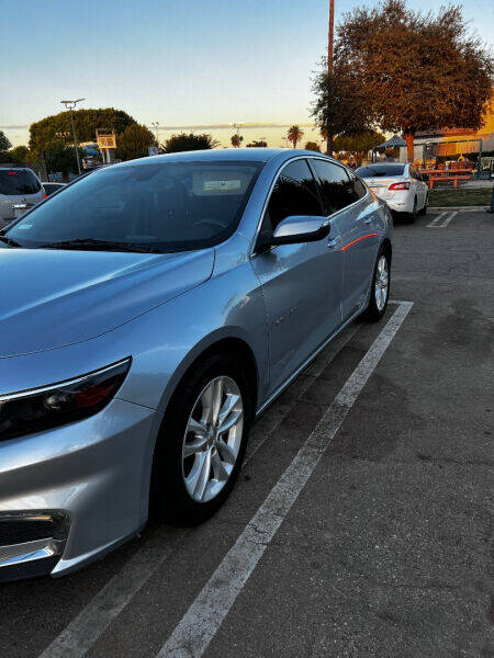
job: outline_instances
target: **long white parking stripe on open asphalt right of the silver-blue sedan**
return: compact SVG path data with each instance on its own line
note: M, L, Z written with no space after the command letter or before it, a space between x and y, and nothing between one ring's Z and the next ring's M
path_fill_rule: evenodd
M412 308L402 302L290 466L161 647L157 658L204 654Z

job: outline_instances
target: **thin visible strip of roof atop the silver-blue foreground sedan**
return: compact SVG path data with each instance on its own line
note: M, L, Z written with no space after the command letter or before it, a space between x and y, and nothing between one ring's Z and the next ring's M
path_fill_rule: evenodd
M283 155L287 160L300 155L326 157L324 154L316 151L294 148L218 148L150 156L148 158L139 158L138 160L120 162L113 167L126 167L138 163L148 164L149 162L267 162L271 158Z

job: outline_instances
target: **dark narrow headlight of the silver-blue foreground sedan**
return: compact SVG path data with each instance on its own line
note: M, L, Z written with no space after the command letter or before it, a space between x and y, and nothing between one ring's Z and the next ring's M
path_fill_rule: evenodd
M131 358L50 386L0 394L0 440L40 432L87 418L114 397Z

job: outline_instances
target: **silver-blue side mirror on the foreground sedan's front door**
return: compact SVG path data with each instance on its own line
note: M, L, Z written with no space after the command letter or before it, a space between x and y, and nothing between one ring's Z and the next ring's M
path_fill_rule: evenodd
M276 227L274 231L265 230L257 241L258 251L266 251L278 245L299 245L316 242L329 234L327 217L292 215Z

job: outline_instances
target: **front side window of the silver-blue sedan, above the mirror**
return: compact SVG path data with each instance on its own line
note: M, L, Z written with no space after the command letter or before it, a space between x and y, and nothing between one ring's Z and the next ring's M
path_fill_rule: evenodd
M291 215L322 215L315 180L306 160L295 160L281 171L265 216L272 230Z

